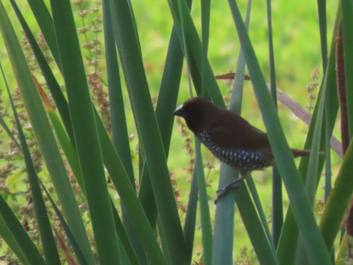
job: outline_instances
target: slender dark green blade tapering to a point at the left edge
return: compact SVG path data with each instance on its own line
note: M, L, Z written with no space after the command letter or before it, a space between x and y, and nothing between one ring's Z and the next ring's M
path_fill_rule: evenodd
M53 231L51 229L48 214L47 214L47 208L45 206L43 196L42 196L42 191L39 187L39 183L37 180L37 178L38 178L37 173L34 169L31 154L29 152L29 149L28 149L28 146L26 143L26 139L23 134L23 130L22 130L22 127L21 127L21 124L20 124L20 121L19 121L19 118L17 115L17 111L16 111L15 105L12 100L10 89L8 88L5 74L2 69L1 64L0 64L0 69L1 69L2 76L4 77L7 94L8 94L8 97L10 98L12 111L14 114L14 118L16 120L17 131L18 131L19 139L20 139L21 146L22 146L22 152L24 155L26 171L28 174L29 184L30 184L30 188L31 188L34 210L36 213L38 228L39 228L39 232L40 232L40 236L41 236L41 240L42 240L42 245L43 245L43 249L44 249L44 256L46 258L47 263L60 264L58 249L56 248Z

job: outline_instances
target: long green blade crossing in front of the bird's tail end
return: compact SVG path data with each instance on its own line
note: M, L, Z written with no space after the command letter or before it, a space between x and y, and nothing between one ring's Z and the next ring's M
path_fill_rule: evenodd
M267 90L238 6L235 1L229 0L228 2L250 75L253 76L251 81L268 132L271 148L273 149L277 166L285 183L295 219L305 240L309 258L312 262L331 264L330 256L324 247L322 235L316 225L309 199L304 191L304 184L301 181L299 172L295 168L293 155L283 134L278 116L276 115L275 106Z

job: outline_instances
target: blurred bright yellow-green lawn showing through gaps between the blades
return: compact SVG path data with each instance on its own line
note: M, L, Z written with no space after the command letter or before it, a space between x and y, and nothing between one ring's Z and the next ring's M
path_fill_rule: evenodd
M48 1L46 1L48 2ZM140 45L142 49L142 56L144 60L145 71L150 87L152 97L158 94L158 88L161 82L164 61L166 58L170 32L172 29L172 17L170 15L167 1L138 1L131 0L135 18L137 21L137 28L139 34ZM237 1L239 7L245 14L247 1ZM322 64L321 64L321 48L320 36L318 26L317 2L316 1L271 1L272 2L272 24L273 24L273 45L274 45L274 58L275 58L275 71L276 71L276 84L277 88L286 92L294 100L298 101L302 106L310 103L309 94L306 87L313 81L312 73L316 67L319 70L319 83L322 78ZM23 12L26 21L29 23L31 30L37 34L39 29L36 21L31 13L31 10L26 1L17 1L21 11ZM47 3L48 4L48 3ZM23 35L20 34L20 26L17 18L12 11L10 3L4 1L4 5L10 19L18 33L19 39ZM50 8L49 5L47 5ZM82 7L87 9L96 6L94 1L85 0ZM77 6L73 6L73 10L78 11ZM337 1L327 1L327 24L328 24L328 45L330 47L331 34L333 30L335 13L337 10ZM101 16L101 11L99 11ZM191 9L191 14L196 23L196 27L201 30L201 10L200 2L194 1ZM88 13L84 20L85 25L91 27L91 22L97 14ZM76 16L77 27L83 26L83 21L80 17ZM263 74L269 82L269 55L268 55L268 32L267 32L267 13L265 1L253 1L250 16L250 37L252 44L255 48L259 64ZM133 34L133 33L132 33ZM102 73L102 81L106 81L106 66L104 60L104 43L103 33L97 34L98 39L101 40L102 56L99 64L99 70ZM96 37L96 34L88 32L88 40ZM80 35L81 43L83 44L86 39L85 36ZM239 40L237 32L234 27L233 19L229 11L226 1L212 1L211 2L211 19L210 19L210 40L208 58L211 67L215 74L226 73L228 70L235 71L239 53ZM84 58L89 57L89 52L82 49ZM16 87L16 81L13 78L10 62L7 59L6 49L4 43L0 38L0 60L6 71L8 82L11 89ZM87 73L92 71L88 64ZM59 71L54 71L56 76L59 76ZM40 81L40 75L36 74ZM122 80L124 77L121 74ZM62 80L59 78L59 80ZM123 83L123 82L122 82ZM231 86L224 81L218 81L223 96L229 96L228 91ZM0 80L0 88L4 89L4 81ZM318 92L314 91L313 94ZM124 91L126 115L128 122L128 133L136 135L136 129L132 117L131 107L128 100L127 92ZM180 85L179 104L182 104L189 98L189 87L187 83L187 69L184 64L183 75ZM8 99L4 97L3 106L6 108L9 105ZM253 94L250 81L245 81L244 98L243 98L243 111L242 116L247 119L251 124L264 130L262 118L257 106L255 96ZM282 122L283 129L287 136L289 145L292 148L302 148L307 133L307 126L304 122L295 117L286 107L279 104L279 116ZM334 131L334 135L340 139L338 130ZM190 135L191 136L191 135ZM0 137L7 142L4 133ZM177 188L179 190L178 200L181 204L186 205L190 189L190 173L187 172L189 167L190 155L186 153L184 147L185 137L181 136L180 125L175 124L173 136L170 146L170 154L168 166L170 171L174 171ZM136 150L137 137L131 141L132 152ZM1 149L6 148L6 145L1 145ZM214 215L215 205L215 191L218 185L219 176L219 161L214 159L211 154L203 148L204 163L211 163L214 165L212 169L205 168L207 181L210 184L208 194L210 196L210 210L211 216ZM333 153L333 178L337 175L339 158ZM135 156L136 170L138 170L137 156ZM0 166L4 165L5 161L0 160ZM270 215L271 209L271 170L259 171L253 173L253 178L257 184L259 196L265 214ZM286 207L288 206L288 199L286 197L285 189L283 188L283 198ZM319 189L317 194L318 199L323 199L323 190ZM319 218L319 212L322 206L316 204L315 212ZM184 214L185 215L185 214ZM185 216L181 214L183 220ZM270 218L269 218L270 220ZM182 221L183 223L183 221ZM199 224L197 223L197 228ZM249 249L251 244L247 237L245 228L240 220L239 214L235 214L234 225L234 257L239 257L239 249L246 245ZM201 245L201 229L197 229L195 238L195 251L194 255L202 253ZM248 251L248 254L250 252ZM252 255L252 254L249 254Z

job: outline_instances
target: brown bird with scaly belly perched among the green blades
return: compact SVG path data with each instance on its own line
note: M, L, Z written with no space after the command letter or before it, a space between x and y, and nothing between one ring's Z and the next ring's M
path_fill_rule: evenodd
M183 117L187 127L216 158L240 172L238 179L217 190L215 203L251 171L275 164L266 133L207 98L191 98L179 106L173 115ZM295 158L310 154L309 150L292 149L292 152Z

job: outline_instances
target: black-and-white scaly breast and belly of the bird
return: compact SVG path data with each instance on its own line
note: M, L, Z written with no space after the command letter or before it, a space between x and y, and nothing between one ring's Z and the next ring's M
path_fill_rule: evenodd
M241 173L262 170L274 164L274 156L270 150L247 150L243 148L221 148L211 140L208 131L196 135L198 139L221 162L234 167Z

